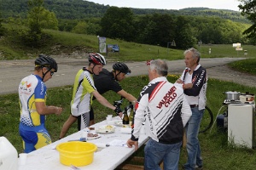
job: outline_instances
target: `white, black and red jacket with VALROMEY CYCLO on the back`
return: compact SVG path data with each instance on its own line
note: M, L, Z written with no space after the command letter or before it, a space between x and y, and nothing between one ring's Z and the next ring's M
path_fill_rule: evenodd
M145 119L146 133L151 139L163 144L182 141L183 127L191 116L183 88L168 82L166 77L155 78L143 88L135 109L133 141L138 140Z

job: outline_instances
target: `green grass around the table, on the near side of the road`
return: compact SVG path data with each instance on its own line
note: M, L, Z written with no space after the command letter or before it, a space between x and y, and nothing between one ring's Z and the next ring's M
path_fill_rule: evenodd
M177 75L169 75L168 79L174 82L177 79ZM148 76L140 77L127 77L121 86L138 97L139 92L144 85L148 84ZM72 96L72 86L49 88L48 90L48 105L58 105L64 108L61 116L50 115L47 116L46 127L49 130L49 134L53 141L59 138L61 132L61 126L67 120L69 116L69 103ZM207 105L211 108L214 118L218 114L223 113L219 108L225 99L224 91L236 90L239 92L249 91L252 94L256 94L256 88L249 88L233 82L218 81L215 79L209 79L207 88ZM104 94L109 102L113 103L114 100L119 99L119 95L113 92ZM127 102L127 101L126 101ZM124 103L122 106L125 106ZM113 111L100 105L97 101L94 102L94 109L96 113L96 122L100 122L105 119L108 114L113 114ZM17 94L8 94L0 96L0 136L5 136L15 146L18 152L22 152L21 138L18 133L20 109L18 104ZM68 131L68 134L77 132L77 124ZM219 133L216 130L216 124L212 129L212 133L201 133L199 135L201 141L202 156L204 158L204 169L254 169L256 166L256 154L255 150L236 148L235 146L228 144L227 133ZM143 153L138 151L135 155L142 156ZM181 151L180 167L186 161L186 150Z

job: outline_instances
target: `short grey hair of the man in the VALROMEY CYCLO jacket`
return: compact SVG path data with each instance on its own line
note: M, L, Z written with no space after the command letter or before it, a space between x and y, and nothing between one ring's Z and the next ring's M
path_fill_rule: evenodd
M168 74L168 65L165 60L155 59L150 61L150 70L155 70L158 75L166 77Z

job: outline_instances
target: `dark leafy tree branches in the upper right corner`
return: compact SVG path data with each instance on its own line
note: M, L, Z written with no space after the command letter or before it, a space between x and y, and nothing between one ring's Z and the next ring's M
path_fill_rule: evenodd
M250 26L243 34L246 34L247 37L251 38L252 42L256 41L256 0L239 0L241 2L238 7L241 9L241 15L247 17L253 25Z

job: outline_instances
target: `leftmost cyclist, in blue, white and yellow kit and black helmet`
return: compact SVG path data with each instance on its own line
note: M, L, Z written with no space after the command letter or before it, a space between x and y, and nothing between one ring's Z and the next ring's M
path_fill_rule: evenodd
M24 152L29 153L51 143L49 133L44 127L45 116L60 115L61 107L47 106L46 86L58 70L55 59L40 54L35 60L35 70L23 78L19 85L20 125L19 133L23 140Z

